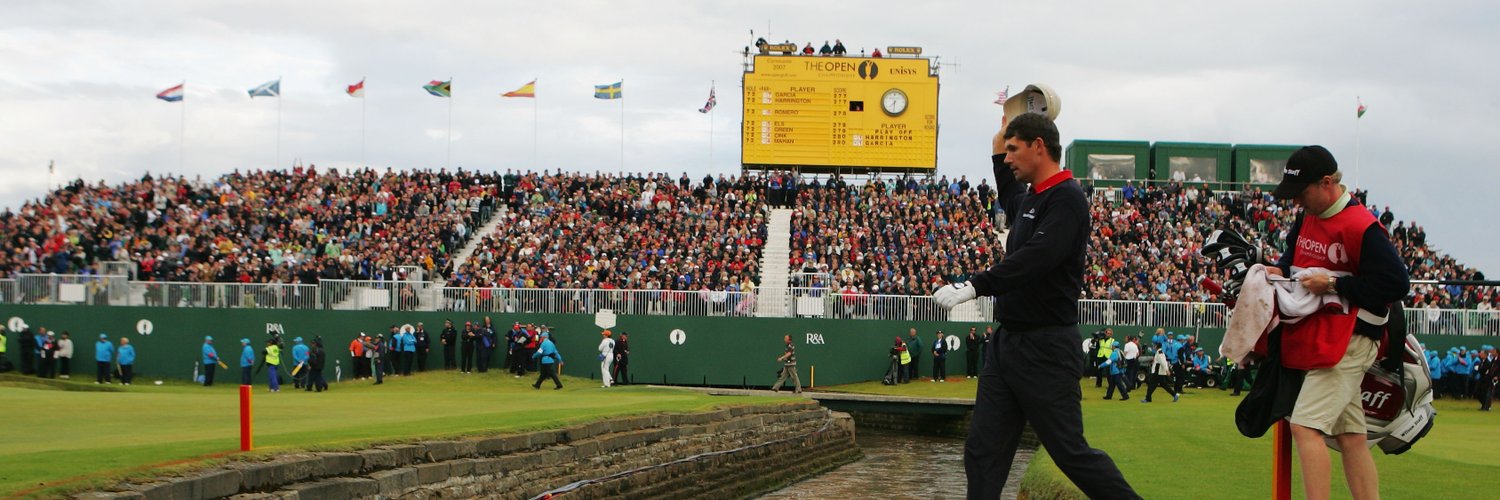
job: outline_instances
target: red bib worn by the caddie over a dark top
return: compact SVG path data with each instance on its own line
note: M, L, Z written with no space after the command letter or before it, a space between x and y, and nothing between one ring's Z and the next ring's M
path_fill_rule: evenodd
M1328 219L1305 213L1293 248L1292 273L1308 267L1358 272L1359 249L1371 224L1378 222L1359 203L1346 206ZM1350 305L1344 314L1318 311L1302 321L1286 324L1281 330L1281 365L1294 369L1338 365L1348 348L1348 338L1354 335L1358 312Z

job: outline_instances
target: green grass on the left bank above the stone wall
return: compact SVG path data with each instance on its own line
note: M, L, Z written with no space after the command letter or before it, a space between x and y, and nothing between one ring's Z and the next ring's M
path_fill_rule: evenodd
M238 386L136 380L100 389L92 380L0 375L0 497L58 494L290 450L360 449L438 437L560 428L627 414L704 411L780 398L722 398L678 389L564 377L564 390L531 389L504 372L429 372L333 384L326 393L254 398L255 450L238 453Z

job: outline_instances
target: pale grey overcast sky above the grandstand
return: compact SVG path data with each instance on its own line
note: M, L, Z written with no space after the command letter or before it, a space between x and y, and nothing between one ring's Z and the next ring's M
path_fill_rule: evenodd
M1047 83L1064 143L1324 144L1372 203L1494 273L1496 20L1486 2L6 0L0 206L40 197L50 161L54 183L278 165L278 101L246 96L278 77L282 167L442 167L452 105L454 168L616 171L620 102L591 86L624 80L626 170L736 173L753 29L957 63L939 174L987 177L994 92ZM363 102L344 93L360 78ZM453 99L422 90L447 78ZM498 96L532 78L534 102ZM184 102L153 98L182 81Z

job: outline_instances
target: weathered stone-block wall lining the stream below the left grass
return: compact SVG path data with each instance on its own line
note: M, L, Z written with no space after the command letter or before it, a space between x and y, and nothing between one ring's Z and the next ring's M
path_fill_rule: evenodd
M294 453L80 498L746 497L861 456L813 401L654 414L528 434Z

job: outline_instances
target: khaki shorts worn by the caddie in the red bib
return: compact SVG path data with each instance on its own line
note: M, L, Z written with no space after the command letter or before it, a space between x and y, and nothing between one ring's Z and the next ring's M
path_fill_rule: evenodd
M1380 342L1356 333L1348 338L1348 348L1338 365L1310 369L1292 408L1292 423L1323 431L1324 435L1365 434L1360 383L1378 348Z

